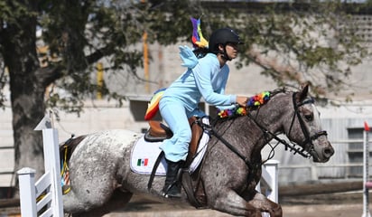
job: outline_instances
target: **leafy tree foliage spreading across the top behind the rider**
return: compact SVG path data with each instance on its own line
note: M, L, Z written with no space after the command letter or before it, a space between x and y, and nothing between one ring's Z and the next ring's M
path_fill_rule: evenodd
M309 82L317 94L337 92L347 85L350 66L360 63L367 55L363 43L350 22L358 11L368 5L348 6L337 1L311 1L265 4L248 10L251 3L239 3L236 8L223 6L216 12L210 3L197 1L40 1L23 5L22 1L0 1L3 28L18 22L19 16L37 18L34 27L42 28L42 41L49 46L50 67L59 65L60 76L51 80L55 89L48 103L79 112L83 100L97 90L90 71L101 58L111 61L113 73L132 73L143 66L143 53L133 45L142 41L143 33L149 42L164 45L187 40L190 35L190 16L202 15L202 28L209 35L220 24L228 23L240 31L245 46L237 67L251 63L261 66L262 74L278 85L298 86ZM350 11L350 8L353 8ZM246 13L246 11L249 11ZM228 21L228 22L227 22ZM22 27L22 24L19 24ZM22 30L19 30L22 32ZM1 33L1 32L0 32ZM14 35L14 40L16 40ZM346 40L347 39L347 40ZM2 53L5 47L1 47ZM340 64L344 62L346 64ZM109 70L108 68L106 70ZM5 80L4 72L2 80ZM4 82L2 83L2 88ZM108 99L125 99L110 92ZM4 96L0 102L4 102Z

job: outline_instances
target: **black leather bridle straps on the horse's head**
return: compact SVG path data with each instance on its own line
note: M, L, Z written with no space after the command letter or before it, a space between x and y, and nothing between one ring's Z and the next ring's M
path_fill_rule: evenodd
M310 157L311 154L313 151L314 151L314 145L312 144L312 141L317 139L318 137L321 137L321 136L327 136L327 131L325 130L322 130L322 131L319 131L317 133L315 133L314 135L310 136L310 133L309 133L309 130L306 128L305 126L305 123L300 115L300 111L299 111L299 108L302 107L303 105L305 104L312 104L314 103L314 99L306 99L300 103L296 103L296 93L293 93L293 107L294 107L294 114L293 114L293 118L292 118L292 123L291 123L291 127L289 128L289 131L288 131L288 136L291 135L291 131L292 131L292 127L293 127L293 123L294 123L294 119L297 117L298 121L300 122L300 127L302 129L302 133L303 133L303 136L305 137L305 140L301 143L301 144L298 144L299 146L302 146L302 150L298 150L298 149L294 149L294 150L297 150L297 153L301 154L302 156L305 156L305 157ZM309 144L307 150L305 148L305 146ZM307 152L307 153L305 153Z

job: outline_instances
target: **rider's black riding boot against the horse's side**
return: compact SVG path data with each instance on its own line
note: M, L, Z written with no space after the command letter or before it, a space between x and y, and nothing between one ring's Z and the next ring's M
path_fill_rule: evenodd
M167 159L165 161L168 164L167 176L165 178L165 184L163 187L164 197L181 197L181 166L183 161L172 162Z

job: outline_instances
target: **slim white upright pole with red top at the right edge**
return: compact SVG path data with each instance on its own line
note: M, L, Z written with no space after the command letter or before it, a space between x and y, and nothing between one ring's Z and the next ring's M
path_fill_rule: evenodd
M367 122L364 122L363 132L363 214L362 217L371 217L368 208L368 190L372 188L372 182L369 182L369 127Z

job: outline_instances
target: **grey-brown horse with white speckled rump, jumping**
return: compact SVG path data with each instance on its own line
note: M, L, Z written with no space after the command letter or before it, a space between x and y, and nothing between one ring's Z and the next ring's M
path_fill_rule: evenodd
M270 99L246 115L220 118L211 124L213 133L205 156L190 175L192 188L201 192L194 195L203 196L197 198L201 206L237 216L258 217L268 212L271 217L281 217L281 205L256 191L264 146L275 139L319 163L334 154L308 86L269 92ZM72 216L102 216L123 208L133 194L162 203L193 204L184 188L181 198L163 197L164 176L154 176L148 189L150 175L131 170L131 150L141 137L143 134L130 130L112 129L76 138L69 160L70 193L63 195L64 211Z

